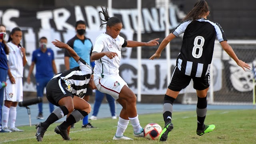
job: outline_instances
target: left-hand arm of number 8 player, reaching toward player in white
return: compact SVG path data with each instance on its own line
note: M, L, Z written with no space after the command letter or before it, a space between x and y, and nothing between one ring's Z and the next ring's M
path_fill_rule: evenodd
M176 38L176 36L172 33L170 33L168 36L166 36L166 38L164 38L164 40L161 42L160 46L158 47L158 49L156 50L156 53L153 54L149 59L150 60L154 60L154 58L160 58L161 56L161 52L164 50L164 48L167 46L167 44L172 40Z

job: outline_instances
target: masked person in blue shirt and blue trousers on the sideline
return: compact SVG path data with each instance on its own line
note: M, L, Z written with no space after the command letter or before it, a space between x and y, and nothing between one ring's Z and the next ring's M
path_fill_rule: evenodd
M36 64L36 92L38 97L44 96L44 88L47 83L52 79L54 74L57 74L56 65L54 61L54 52L52 49L47 48L47 38L42 37L39 39L39 48L34 50L32 54L32 63L29 68L27 82L30 84L30 75ZM43 103L38 104L37 119L44 119L43 117ZM49 102L50 113L54 110L54 105Z

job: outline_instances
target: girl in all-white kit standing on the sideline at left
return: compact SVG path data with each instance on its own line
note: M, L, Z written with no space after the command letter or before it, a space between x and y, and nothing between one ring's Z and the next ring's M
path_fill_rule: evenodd
M4 90L4 107L2 109L2 127L8 132L22 132L15 127L16 107L18 102L23 100L22 77L23 68L27 63L25 48L20 45L22 31L16 27L12 29L8 39L10 48L8 59L8 76L6 83L8 86ZM10 117L10 127L8 128L8 118Z

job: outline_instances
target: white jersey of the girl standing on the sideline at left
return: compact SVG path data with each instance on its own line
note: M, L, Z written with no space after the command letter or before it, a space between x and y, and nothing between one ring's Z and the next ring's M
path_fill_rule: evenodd
M7 43L10 53L8 56L8 65L10 66L10 71L14 78L22 78L23 77L23 54L20 51L20 46L16 46L12 42ZM9 76L7 75L7 79Z

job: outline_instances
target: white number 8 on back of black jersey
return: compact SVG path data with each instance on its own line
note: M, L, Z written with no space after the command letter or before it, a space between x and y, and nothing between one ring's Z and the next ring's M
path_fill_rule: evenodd
M200 40L200 44L198 44L198 40ZM203 46L204 46L204 37L202 36L196 36L194 40L194 47L192 50L192 56L194 58L200 58L203 53ZM196 51L198 50L198 54L196 54Z

